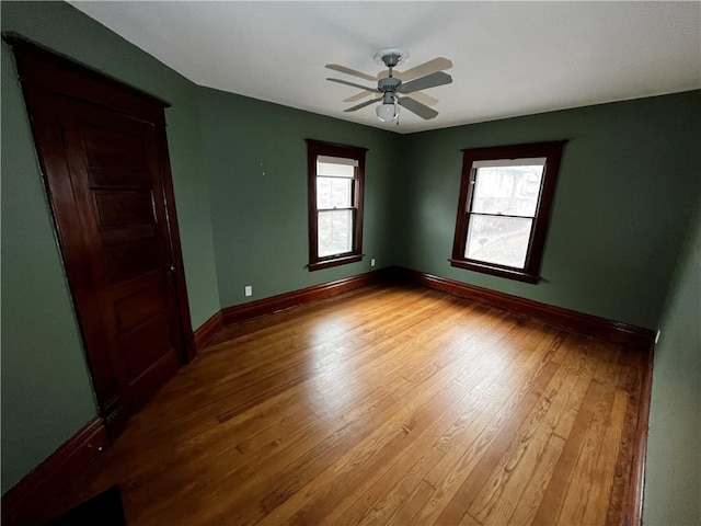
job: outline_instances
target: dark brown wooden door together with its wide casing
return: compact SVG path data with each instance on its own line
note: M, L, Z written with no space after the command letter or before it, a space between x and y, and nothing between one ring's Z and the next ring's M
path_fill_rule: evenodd
M183 364L192 341L163 107L151 102L147 111L129 91L120 95L126 104L115 102L118 87L108 79L76 93L76 72L85 72L60 59L51 67L67 71L69 85L61 89L50 68L49 81L37 82L50 57L41 52L35 64L24 49L15 56L93 384L118 433ZM101 80L89 73L88 85Z

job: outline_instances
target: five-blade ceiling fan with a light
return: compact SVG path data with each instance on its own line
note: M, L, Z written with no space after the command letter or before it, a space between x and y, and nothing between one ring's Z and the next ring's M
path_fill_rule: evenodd
M337 64L326 65L326 68L334 71L352 75L368 81L377 80L377 88L357 84L343 79L327 78L326 80L363 90L345 99L344 102L355 102L372 93L380 93L380 96L350 106L344 110L345 112L355 112L381 101L381 104L376 108L376 113L382 122L389 123L398 119L399 106L405 107L424 119L434 118L438 115L438 112L429 106L436 104L438 100L421 93L421 91L451 83L452 77L443 70L451 68L452 62L447 58L437 57L412 69L394 71L397 66L406 62L407 59L409 54L401 49L382 49L378 52L375 55L375 60L383 64L389 71L380 71L377 77ZM406 96L409 94L411 94L411 96Z

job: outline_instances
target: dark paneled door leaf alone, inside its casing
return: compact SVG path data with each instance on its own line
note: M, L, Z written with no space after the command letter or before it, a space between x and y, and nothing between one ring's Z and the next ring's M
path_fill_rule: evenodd
M152 123L56 99L92 286L125 404L135 410L182 363L177 295ZM170 356L168 356L170 355ZM159 370L160 369L160 370Z

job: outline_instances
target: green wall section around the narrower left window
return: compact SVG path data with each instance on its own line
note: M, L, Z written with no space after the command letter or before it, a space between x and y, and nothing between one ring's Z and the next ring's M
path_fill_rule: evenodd
M394 264L387 228L401 137L290 107L202 88L200 126L223 307ZM354 264L309 272L306 138L369 148L363 251ZM243 288L253 286L245 298Z

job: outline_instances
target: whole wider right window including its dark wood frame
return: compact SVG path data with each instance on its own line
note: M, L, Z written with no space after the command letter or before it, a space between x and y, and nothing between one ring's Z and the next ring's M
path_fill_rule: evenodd
M463 151L452 266L540 281L563 141Z

